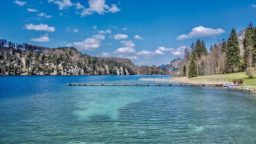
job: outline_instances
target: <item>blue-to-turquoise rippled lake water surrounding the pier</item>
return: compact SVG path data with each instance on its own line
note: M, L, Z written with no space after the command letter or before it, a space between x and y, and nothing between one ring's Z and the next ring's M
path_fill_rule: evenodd
M147 83L141 77L170 76L0 76L0 143L256 142L250 92L66 84Z

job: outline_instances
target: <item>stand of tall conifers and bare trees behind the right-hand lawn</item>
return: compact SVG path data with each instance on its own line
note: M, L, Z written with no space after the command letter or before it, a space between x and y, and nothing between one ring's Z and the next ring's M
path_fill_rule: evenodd
M195 77L212 74L246 72L250 78L256 69L256 27L252 23L245 30L242 46L239 46L236 30L233 28L226 41L218 40L207 50L204 41L186 46L184 50L184 76Z

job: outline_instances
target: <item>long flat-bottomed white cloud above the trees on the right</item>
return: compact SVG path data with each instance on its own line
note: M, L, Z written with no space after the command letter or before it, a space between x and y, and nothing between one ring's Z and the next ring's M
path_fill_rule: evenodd
M194 38L194 37L216 36L224 32L226 31L222 30L221 28L212 29L212 28L204 28L203 26L198 26L198 27L192 28L192 31L187 35L182 34L178 36L177 40L184 40L187 38Z

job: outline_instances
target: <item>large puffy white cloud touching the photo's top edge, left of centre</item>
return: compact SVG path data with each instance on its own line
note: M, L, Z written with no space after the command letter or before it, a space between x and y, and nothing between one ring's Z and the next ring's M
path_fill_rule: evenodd
M105 4L105 0L89 0L89 8L83 8L81 16L86 16L97 12L98 14L104 14L106 12L118 12L119 8L115 4L111 4L111 7Z

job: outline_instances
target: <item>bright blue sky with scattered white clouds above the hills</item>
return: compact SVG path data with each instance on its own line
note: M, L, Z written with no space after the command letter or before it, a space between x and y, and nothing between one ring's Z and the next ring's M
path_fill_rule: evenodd
M158 66L255 24L256 1L2 0L0 13L1 39Z

